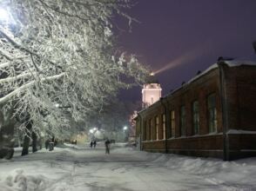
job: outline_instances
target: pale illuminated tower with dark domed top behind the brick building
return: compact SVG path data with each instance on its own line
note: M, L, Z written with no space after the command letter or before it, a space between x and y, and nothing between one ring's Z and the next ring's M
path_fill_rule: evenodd
M158 102L161 97L161 92L162 89L160 84L158 83L154 74L151 73L142 89L142 108L145 109L154 102Z

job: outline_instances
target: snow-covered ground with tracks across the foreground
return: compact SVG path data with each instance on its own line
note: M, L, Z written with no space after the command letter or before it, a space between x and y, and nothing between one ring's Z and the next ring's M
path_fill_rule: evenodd
M119 146L119 147L118 147ZM0 190L256 190L256 158L239 161L152 154L117 145L55 148L0 160Z

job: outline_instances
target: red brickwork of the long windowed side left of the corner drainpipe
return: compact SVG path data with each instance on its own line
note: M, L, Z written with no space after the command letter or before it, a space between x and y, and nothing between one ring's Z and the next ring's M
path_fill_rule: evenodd
M217 133L222 132L222 116L221 105L219 96L219 70L212 69L209 73L199 77L195 81L188 85L184 85L181 89L173 92L172 95L167 96L167 114L171 115L171 110L175 110L175 138L167 141L167 150L172 151L175 149L183 150L220 150L223 148L222 135L208 135L208 121L207 121L207 96L211 93L216 94L217 104L217 119L218 129ZM199 136L193 135L192 128L192 102L199 101ZM185 137L180 137L180 107L185 106ZM155 126L155 117L158 115L159 128L158 135L159 140L163 139L163 126L162 126L162 114L165 113L164 106L158 102L152 105L144 114L144 121L149 123L153 120L153 126ZM170 124L166 124L166 128L170 128ZM171 129L169 129L171 131ZM155 134L155 128L152 127L152 133ZM204 135L204 136L200 136ZM143 149L149 151L164 151L165 141L156 140L156 135L152 135L153 142L143 142Z

